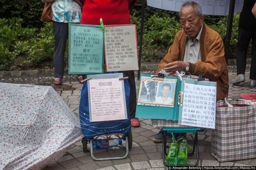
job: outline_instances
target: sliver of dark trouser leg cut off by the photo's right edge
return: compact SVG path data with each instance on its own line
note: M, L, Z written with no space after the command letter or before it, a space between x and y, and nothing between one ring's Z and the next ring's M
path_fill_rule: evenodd
M256 87L256 31L252 31L251 47L251 70L250 70L251 88Z

